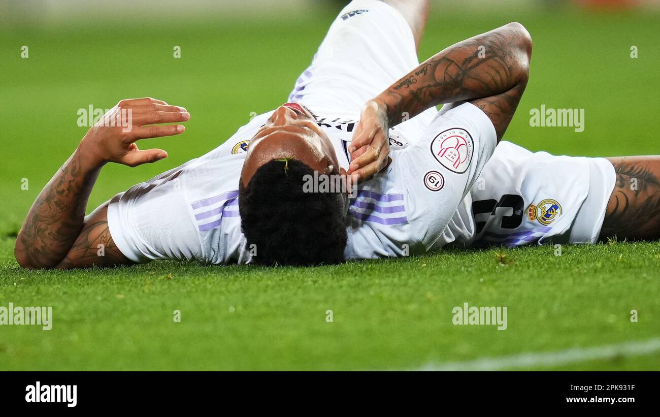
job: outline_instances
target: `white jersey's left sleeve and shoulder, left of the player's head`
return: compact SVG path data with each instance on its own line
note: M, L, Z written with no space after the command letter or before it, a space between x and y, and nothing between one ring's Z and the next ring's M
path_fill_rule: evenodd
M108 227L121 253L137 263L249 261L236 195L248 142L271 113L211 152L113 197Z

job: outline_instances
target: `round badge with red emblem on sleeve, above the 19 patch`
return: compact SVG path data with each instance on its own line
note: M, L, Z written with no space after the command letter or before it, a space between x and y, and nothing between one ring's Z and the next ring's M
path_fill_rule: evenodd
M440 133L431 142L433 156L447 170L463 174L472 161L475 142L471 135L460 127L452 127Z

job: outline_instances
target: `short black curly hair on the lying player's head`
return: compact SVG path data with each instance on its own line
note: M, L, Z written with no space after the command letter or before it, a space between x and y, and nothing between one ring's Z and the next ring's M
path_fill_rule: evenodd
M344 261L347 232L341 193L306 193L312 168L294 159L271 160L240 181L238 207L248 247L260 265L321 265Z

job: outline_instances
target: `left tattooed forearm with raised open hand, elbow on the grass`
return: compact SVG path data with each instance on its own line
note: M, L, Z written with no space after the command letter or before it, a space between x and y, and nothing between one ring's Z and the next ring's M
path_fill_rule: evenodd
M106 113L32 204L16 237L14 254L18 264L24 268L54 268L75 249L72 246L79 241L81 231L96 231L95 236L102 236L98 225L90 230L84 224L87 200L102 166L107 162L137 166L165 158L164 150L139 150L135 142L178 135L183 125L154 123L186 121L189 117L184 108L153 98L122 100ZM69 261L67 265L75 264ZM75 266L88 265L81 262Z

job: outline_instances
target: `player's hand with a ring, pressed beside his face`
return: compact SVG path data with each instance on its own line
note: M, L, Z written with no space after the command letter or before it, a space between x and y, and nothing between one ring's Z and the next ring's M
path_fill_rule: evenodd
M364 104L348 152L351 159L348 174L357 175L360 181L385 168L389 155L389 119L385 104L376 99Z

